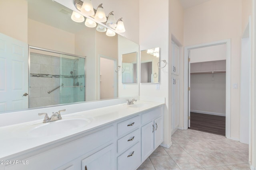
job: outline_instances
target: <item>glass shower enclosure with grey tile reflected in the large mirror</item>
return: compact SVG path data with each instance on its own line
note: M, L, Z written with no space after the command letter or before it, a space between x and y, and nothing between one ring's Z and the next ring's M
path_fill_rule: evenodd
M29 108L86 101L86 58L30 46Z

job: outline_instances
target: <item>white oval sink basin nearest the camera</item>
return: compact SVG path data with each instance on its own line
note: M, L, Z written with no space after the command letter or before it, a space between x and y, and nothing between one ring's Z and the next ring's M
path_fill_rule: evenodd
M91 119L82 116L66 116L62 117L61 120L49 123L42 123L40 121L40 123L26 125L24 128L26 134L30 137L43 137L72 131L88 125L91 121Z

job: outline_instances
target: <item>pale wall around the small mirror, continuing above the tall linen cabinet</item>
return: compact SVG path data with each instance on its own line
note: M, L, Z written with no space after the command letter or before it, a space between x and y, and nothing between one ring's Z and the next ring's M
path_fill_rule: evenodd
M171 40L183 43L183 9L179 0L140 0L139 39L140 51L160 47L160 60L166 60L165 68L160 69L160 89L156 84L141 84L140 96L155 96L166 98L164 109L164 146L171 145L171 90L170 69ZM150 18L150 19L149 19ZM181 48L182 49L182 48ZM181 73L182 74L182 73ZM182 100L182 99L181 99Z

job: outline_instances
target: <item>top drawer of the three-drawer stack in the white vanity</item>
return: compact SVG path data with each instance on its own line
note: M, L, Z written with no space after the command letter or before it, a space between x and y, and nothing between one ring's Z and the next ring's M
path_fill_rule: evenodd
M126 121L117 124L117 135L123 135L129 131L136 129L140 125L140 116L132 117Z

